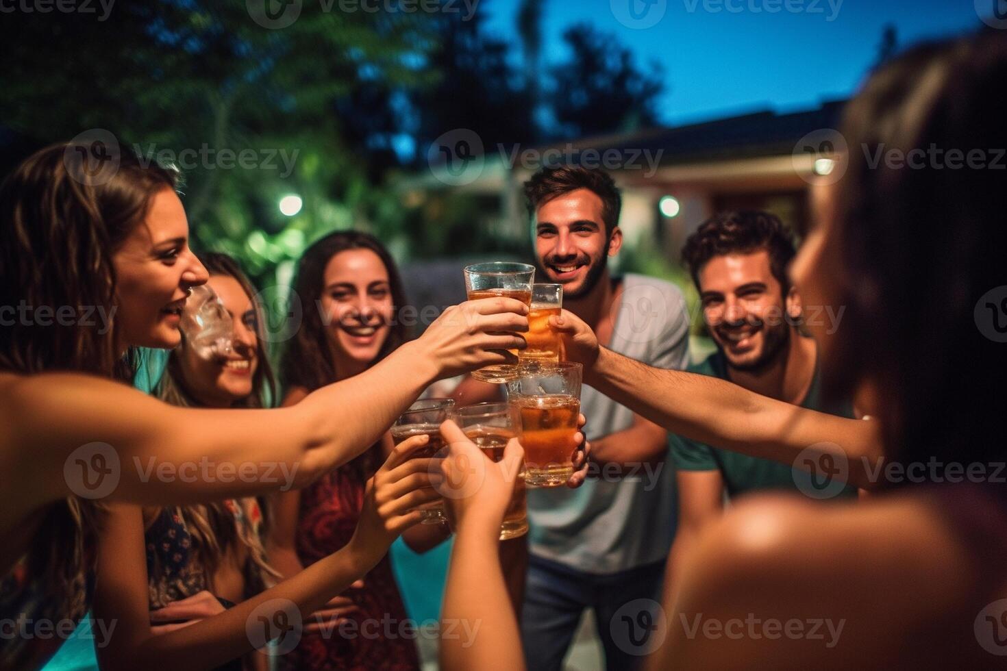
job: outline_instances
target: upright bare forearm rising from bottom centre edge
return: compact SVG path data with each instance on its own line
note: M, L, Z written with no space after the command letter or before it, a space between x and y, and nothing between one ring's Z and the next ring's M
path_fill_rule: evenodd
M461 635L441 640L440 667L444 671L525 668L521 635L500 568L498 524L459 529L451 563L441 620L465 627L442 627ZM471 632L471 638L464 633Z

